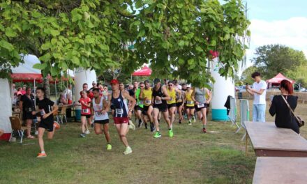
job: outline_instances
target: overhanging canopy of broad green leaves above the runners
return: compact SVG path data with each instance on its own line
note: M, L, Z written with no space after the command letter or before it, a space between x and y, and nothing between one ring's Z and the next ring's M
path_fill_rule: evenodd
M250 34L244 10L240 0L1 1L0 65L9 70L33 54L44 76L58 76L78 67L131 73L149 63L153 75L201 86L211 79L210 50L220 53L220 75L238 69Z

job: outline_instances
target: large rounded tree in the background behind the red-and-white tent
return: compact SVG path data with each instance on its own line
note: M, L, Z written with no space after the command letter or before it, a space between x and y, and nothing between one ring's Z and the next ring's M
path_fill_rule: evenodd
M279 72L297 79L301 76L300 70L306 70L307 60L304 52L292 49L285 45L264 45L258 47L252 59L257 70L269 79Z

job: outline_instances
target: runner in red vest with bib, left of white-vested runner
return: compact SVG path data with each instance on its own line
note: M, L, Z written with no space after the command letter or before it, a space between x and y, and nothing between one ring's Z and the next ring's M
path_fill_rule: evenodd
M87 122L91 122L91 99L87 97L87 91L82 91L82 98L79 100L81 105L81 137L86 137L89 134L89 128L87 128Z

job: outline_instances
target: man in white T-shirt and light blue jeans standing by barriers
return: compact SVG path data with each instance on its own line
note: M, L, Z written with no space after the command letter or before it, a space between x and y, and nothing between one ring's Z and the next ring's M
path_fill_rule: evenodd
M267 82L261 79L260 72L253 72L252 78L254 79L253 89L246 85L246 91L254 96L253 102L253 121L265 122L265 109L266 109L266 95L267 95Z

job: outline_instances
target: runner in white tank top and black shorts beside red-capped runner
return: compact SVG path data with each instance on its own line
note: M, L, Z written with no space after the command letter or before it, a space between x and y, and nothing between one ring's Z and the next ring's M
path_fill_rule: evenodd
M96 135L104 134L107 140L107 150L112 150L112 145L110 143L111 138L109 134L109 105L105 98L100 96L99 89L93 89L93 101L91 102L91 108L94 112L94 122L95 122L95 133ZM103 126L103 131L101 128Z

